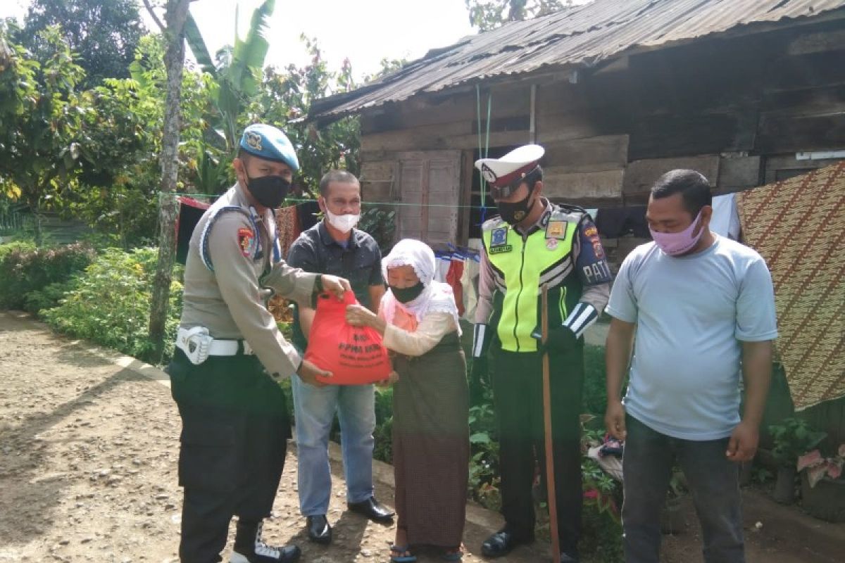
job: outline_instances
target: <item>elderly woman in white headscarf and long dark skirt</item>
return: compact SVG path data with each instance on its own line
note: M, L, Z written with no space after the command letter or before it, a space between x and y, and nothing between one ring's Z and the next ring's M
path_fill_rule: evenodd
M346 320L373 327L395 353L393 466L395 544L390 560L416 560L411 547L437 546L460 560L466 517L469 400L466 360L455 296L434 281L435 258L421 241L399 241L382 260L384 294L378 316L349 306Z

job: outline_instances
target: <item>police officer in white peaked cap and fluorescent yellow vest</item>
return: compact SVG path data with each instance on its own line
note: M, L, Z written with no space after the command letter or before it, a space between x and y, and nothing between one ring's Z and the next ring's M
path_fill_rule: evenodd
M535 452L543 452L542 356L551 379L555 496L560 561L578 560L581 531L583 334L608 303L610 271L596 225L582 208L542 197L544 154L527 144L499 159L477 160L499 216L482 225L472 387L493 356L504 528L482 544L506 555L534 538ZM542 344L542 287L548 288L548 340Z

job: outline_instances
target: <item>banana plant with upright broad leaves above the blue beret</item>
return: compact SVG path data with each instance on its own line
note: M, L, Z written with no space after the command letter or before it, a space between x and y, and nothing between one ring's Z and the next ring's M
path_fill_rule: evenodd
M211 124L226 143L226 150L234 154L237 149L237 117L248 101L259 92L264 58L270 48L266 37L267 23L275 9L275 0L264 0L253 11L247 36L237 36L238 8L235 9L235 45L224 46L212 59L203 35L194 17L188 14L185 23L185 39L199 67L214 78L217 88L213 102L217 109L217 120Z

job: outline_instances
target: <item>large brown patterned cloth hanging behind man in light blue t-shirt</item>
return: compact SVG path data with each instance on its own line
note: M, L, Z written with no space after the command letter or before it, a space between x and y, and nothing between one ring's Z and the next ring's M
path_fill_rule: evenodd
M777 355L795 410L845 396L845 160L736 199L743 241L775 284Z

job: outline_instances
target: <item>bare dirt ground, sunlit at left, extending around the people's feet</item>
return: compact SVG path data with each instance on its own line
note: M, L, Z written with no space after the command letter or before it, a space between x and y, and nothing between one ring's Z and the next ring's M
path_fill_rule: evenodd
M137 361L53 335L22 314L0 313L0 562L177 561L180 423L166 381L156 378L161 372ZM376 494L390 504L390 468L378 465ZM335 543L308 544L293 447L266 538L298 544L303 561L314 563L388 560L394 529L346 512L341 468L333 462L333 469ZM845 525L818 522L761 495L746 495L745 503L749 561L845 560ZM666 563L701 560L689 519L685 533L665 540ZM755 522L763 524L759 531L752 531ZM466 561L482 560L477 549L499 524L498 515L469 507ZM547 549L535 544L502 561L547 560Z

